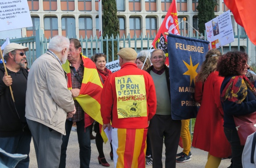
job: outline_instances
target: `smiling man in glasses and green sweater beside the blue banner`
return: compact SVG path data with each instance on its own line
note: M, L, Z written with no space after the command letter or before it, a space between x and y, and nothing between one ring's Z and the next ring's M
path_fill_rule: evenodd
M166 147L166 168L176 167L176 152L180 139L181 121L171 116L169 68L164 64L165 53L155 49L151 53L151 63L146 71L155 83L157 108L150 121L148 134L151 141L153 168L162 168L163 140Z

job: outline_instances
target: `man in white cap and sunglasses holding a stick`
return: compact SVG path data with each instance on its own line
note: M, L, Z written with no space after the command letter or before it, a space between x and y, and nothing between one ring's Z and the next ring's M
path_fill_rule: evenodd
M11 154L28 155L16 168L29 167L31 133L25 119L28 70L22 68L28 50L16 43L8 44L4 48L7 73L0 64L0 148Z

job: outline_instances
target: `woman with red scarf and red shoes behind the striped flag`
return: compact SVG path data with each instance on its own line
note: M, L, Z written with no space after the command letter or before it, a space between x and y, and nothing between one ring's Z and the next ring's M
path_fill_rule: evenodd
M101 79L101 83L104 84L107 77L112 73L110 70L106 68L106 55L104 53L97 53L91 59L96 64L97 71ZM106 161L105 155L103 152L103 139L101 137L100 129L101 127L99 126L99 123L96 122L94 124L94 132L96 133L95 144L99 152L98 161L99 161L99 164L101 164L102 166L109 167L110 165ZM113 160L112 146L111 146L110 158Z

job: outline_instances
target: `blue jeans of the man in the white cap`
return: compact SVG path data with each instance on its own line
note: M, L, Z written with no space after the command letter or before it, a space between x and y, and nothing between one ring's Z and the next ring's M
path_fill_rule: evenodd
M28 157L19 161L15 168L29 168L29 151L31 133L24 132L15 137L0 137L0 148L10 154L27 154Z

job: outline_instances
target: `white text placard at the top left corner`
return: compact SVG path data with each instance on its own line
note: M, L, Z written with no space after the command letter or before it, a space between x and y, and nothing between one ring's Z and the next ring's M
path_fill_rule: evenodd
M32 26L27 0L0 0L0 31Z

